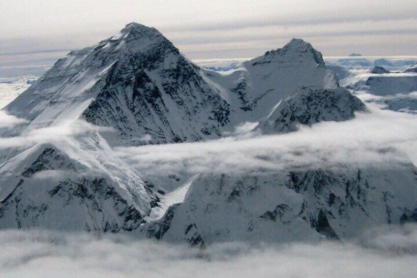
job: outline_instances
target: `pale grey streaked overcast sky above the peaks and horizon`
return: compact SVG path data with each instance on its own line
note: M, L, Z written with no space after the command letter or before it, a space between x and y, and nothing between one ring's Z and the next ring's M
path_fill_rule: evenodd
M0 7L3 65L11 54L54 60L132 21L155 27L191 59L255 57L293 37L325 56L417 54L416 0L0 0Z

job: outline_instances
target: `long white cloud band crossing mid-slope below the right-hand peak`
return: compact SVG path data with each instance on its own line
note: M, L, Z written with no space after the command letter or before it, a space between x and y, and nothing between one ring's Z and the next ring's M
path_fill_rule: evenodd
M354 120L301 126L297 132L214 141L115 148L143 175L379 165L417 161L416 115L357 113ZM244 126L244 125L243 125Z

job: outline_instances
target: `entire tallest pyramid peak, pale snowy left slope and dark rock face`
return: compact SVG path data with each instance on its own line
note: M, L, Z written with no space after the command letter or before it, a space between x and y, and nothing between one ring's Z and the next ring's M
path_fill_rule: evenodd
M119 144L215 138L229 114L197 66L161 33L136 23L69 53L5 109L29 120L29 128L78 118L110 126L116 132L107 139Z

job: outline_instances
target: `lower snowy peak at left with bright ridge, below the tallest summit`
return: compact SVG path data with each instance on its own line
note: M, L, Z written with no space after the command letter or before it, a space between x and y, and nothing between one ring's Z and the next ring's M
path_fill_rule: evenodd
M35 144L0 165L0 228L129 231L157 201L98 134Z

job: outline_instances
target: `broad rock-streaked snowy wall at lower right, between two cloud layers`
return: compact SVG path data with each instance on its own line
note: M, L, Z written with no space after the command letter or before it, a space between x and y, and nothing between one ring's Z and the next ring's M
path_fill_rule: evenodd
M414 165L339 166L203 174L183 203L141 229L150 238L191 245L317 241L415 217Z

